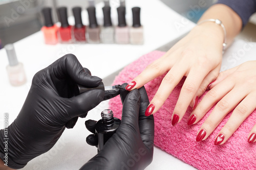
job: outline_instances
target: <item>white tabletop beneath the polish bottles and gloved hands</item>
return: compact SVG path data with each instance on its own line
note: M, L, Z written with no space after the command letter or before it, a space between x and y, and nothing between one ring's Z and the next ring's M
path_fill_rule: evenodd
M112 1L112 18L116 23L116 0ZM102 4L97 4L97 18L102 23ZM129 0L126 1L127 23L131 25L131 8L141 7L141 22L144 26L145 43L143 45L118 44L57 44L46 45L41 32L37 32L16 43L15 50L18 60L25 66L28 83L20 87L12 87L8 82L6 65L8 65L5 50L0 50L0 128L3 128L3 114L9 113L9 124L16 118L22 108L30 88L34 74L47 67L61 56L73 53L80 63L91 70L92 74L105 78L125 65L138 59L143 54L174 40L195 26L194 23L184 20L158 0ZM83 22L88 25L88 15L82 12ZM74 23L74 18L69 18ZM177 29L177 24L182 26ZM89 112L84 119L79 118L73 129L67 129L56 145L46 154L38 156L28 163L24 169L78 169L97 150L86 143L90 134L84 126L87 119L98 120L100 112L108 108L108 102L101 103ZM158 148L155 148L154 160L146 169L194 169L194 167L178 160Z

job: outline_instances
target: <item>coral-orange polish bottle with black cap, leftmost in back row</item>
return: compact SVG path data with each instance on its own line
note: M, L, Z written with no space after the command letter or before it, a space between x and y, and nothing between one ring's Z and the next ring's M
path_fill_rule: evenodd
M57 44L58 37L57 31L58 27L53 24L52 21L52 9L44 8L42 9L42 14L45 18L45 26L41 28L42 33L44 34L46 44Z

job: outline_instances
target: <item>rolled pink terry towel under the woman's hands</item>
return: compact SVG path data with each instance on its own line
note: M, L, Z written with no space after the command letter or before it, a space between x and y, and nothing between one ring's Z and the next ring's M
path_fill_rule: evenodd
M163 54L163 52L155 51L140 57L126 66L113 84L130 83L148 64ZM150 101L163 77L164 75L145 85ZM154 114L156 147L198 169L256 169L256 143L247 142L247 136L256 123L256 110L223 145L214 145L214 139L227 122L230 113L206 140L197 142L197 132L212 109L196 125L188 126L187 120L191 113L189 107L181 122L173 127L171 123L172 113L183 82L184 78L169 95L162 108ZM199 102L201 99L202 97ZM122 104L120 98L110 100L109 105L115 116L121 118Z

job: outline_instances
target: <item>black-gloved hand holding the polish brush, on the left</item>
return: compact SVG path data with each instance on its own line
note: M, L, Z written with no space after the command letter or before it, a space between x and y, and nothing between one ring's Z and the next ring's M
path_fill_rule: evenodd
M22 168L49 151L66 127L73 128L78 116L85 117L104 98L104 90L99 89L75 96L75 85L97 87L101 81L91 76L72 54L37 72L22 110L7 128L8 166ZM0 134L3 159L4 130Z

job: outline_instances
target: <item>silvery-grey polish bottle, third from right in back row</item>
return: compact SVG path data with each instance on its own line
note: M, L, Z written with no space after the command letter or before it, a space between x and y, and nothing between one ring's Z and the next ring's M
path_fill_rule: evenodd
M102 8L104 16L104 25L101 28L101 42L102 43L114 43L115 29L112 26L110 6L104 6Z

